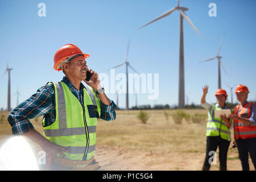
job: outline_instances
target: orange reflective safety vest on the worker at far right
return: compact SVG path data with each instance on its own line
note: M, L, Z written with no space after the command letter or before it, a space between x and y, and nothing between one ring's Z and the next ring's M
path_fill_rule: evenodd
M238 114L238 117L250 118L251 105L253 102L247 102ZM240 105L237 105L234 109L234 114L237 115ZM256 137L256 125L251 123L251 125L246 125L242 121L233 120L234 123L234 135L236 139L242 138L255 138Z

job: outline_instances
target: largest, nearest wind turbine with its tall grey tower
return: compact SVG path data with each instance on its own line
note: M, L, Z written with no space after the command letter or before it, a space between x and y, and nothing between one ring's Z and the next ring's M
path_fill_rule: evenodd
M183 18L187 20L187 22L193 27L193 29L199 34L200 37L201 34L200 32L196 29L196 27L193 25L191 20L188 18L188 16L185 14L184 11L188 11L187 7L181 7L180 6L180 0L177 3L177 6L174 7L173 9L167 11L166 13L158 16L158 18L155 18L151 20L151 22L148 22L144 24L142 27L138 28L137 30L147 26L148 24L151 24L155 22L156 20L159 20L161 18L164 18L168 15L170 15L172 12L175 10L178 10L180 12L180 51L179 51L179 108L184 108L185 107L185 84L184 84L184 44L183 44Z

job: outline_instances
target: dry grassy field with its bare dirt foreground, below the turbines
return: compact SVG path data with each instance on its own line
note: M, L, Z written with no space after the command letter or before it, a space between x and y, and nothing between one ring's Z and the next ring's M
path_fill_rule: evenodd
M117 110L117 118L112 122L100 119L96 160L103 170L200 170L205 157L206 119L195 122L192 117L197 114L207 118L207 111L183 111L188 117L181 123L173 119L177 110L144 110L150 115L146 124L137 118L139 110ZM7 114L0 112L0 117L5 115L0 121L0 146L11 136ZM31 119L31 122L36 130L43 132L42 117ZM31 146L40 150L33 143ZM210 170L219 168L218 150L216 161ZM249 161L250 169L254 169L251 159ZM241 169L237 148L229 150L228 170Z

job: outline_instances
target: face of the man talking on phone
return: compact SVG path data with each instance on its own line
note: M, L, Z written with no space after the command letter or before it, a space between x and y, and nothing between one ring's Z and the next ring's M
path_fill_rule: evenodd
M63 63L63 67L69 77L85 80L88 67L83 56L76 57L69 63Z

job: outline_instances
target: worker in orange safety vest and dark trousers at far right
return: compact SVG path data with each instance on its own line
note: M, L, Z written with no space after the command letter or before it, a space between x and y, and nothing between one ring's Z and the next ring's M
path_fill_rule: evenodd
M234 145L237 146L242 169L249 170L248 152L256 169L256 109L253 102L248 102L249 89L238 85L235 93L239 105L234 107L234 113L229 117L234 123Z

